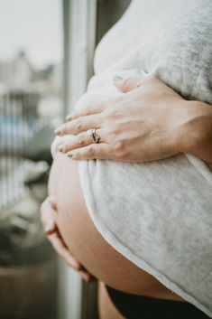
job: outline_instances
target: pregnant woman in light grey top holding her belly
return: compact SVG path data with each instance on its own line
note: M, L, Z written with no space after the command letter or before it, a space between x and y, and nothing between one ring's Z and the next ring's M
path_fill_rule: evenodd
M57 129L42 220L103 319L212 317L211 33L210 0L134 0Z

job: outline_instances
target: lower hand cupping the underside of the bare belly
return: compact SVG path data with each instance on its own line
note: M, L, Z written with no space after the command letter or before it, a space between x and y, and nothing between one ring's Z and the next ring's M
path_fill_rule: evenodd
M87 269L83 267L76 258L74 258L60 235L60 230L57 227L57 205L52 197L41 204L41 222L45 230L47 238L51 241L52 247L57 251L61 258L63 258L69 265L78 271L78 274L87 282L94 281L96 278L88 273Z

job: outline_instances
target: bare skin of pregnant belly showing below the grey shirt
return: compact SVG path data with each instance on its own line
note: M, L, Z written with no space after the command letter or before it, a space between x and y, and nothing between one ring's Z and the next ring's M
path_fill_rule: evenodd
M78 178L78 164L58 154L51 167L49 192L58 205L58 226L69 250L108 286L127 293L182 300L154 277L112 248L90 218Z

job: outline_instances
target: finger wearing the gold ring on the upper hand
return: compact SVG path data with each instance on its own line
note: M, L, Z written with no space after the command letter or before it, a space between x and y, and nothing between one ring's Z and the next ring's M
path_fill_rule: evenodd
M97 136L100 136L100 140L98 143L104 142L103 134L101 129L97 129ZM93 138L88 134L88 132L79 133L77 136L74 136L69 143L60 145L59 150L61 153L65 154L72 149L84 147L87 145L93 144Z

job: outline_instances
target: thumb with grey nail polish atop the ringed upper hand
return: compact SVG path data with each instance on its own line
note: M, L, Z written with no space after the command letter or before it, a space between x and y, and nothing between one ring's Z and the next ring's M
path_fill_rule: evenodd
M121 78L119 76L114 77L115 87L121 92L129 92L133 89L137 89L142 86L143 81L140 78Z

